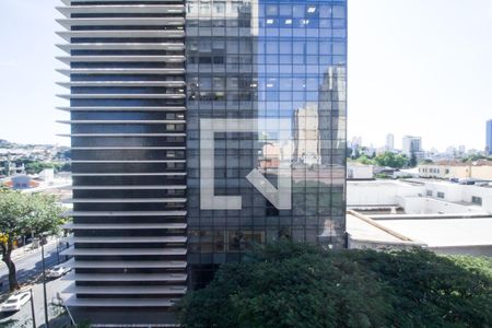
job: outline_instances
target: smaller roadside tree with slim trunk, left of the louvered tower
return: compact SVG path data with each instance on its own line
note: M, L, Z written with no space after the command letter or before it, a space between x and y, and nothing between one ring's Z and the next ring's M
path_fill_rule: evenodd
M11 290L19 288L11 258L15 239L26 234L55 234L63 222L61 212L54 196L0 190L0 250L9 268Z

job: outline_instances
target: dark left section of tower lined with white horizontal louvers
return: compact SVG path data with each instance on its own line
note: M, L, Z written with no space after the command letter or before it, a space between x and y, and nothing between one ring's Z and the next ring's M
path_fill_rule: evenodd
M87 318L133 311L145 323L145 311L166 312L187 285L184 1L62 2L67 305Z

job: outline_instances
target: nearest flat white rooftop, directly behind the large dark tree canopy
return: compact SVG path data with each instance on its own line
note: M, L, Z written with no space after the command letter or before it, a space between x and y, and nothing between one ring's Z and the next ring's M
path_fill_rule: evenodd
M372 214L349 210L348 247L356 249L413 249L424 247L443 255L492 256L492 216L473 213Z

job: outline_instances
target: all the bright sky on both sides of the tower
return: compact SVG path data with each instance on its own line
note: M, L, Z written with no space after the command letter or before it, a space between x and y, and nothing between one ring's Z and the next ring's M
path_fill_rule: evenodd
M59 0L0 2L0 139L62 143ZM349 0L349 137L483 149L492 118L492 0Z

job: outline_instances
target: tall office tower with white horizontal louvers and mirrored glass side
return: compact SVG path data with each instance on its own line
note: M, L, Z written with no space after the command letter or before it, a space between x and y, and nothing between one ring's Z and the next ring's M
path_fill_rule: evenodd
M344 247L347 1L63 2L75 314L164 323L254 244Z

